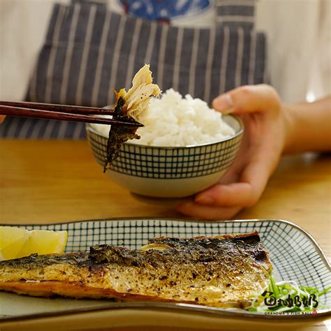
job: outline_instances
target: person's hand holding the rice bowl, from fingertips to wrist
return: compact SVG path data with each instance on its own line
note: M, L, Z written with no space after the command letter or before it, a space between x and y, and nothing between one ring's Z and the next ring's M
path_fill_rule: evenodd
M177 210L199 219L230 219L263 193L284 149L286 112L277 91L265 84L238 87L215 98L212 105L242 118L242 144L226 175Z

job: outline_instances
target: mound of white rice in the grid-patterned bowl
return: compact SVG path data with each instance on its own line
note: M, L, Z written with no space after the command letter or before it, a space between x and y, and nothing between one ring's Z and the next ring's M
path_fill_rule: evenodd
M140 140L129 142L147 146L181 147L201 145L223 140L235 130L223 122L220 112L208 107L205 101L182 95L168 89L162 98L153 98L149 109L142 113L138 128ZM96 130L108 136L109 126L93 125Z

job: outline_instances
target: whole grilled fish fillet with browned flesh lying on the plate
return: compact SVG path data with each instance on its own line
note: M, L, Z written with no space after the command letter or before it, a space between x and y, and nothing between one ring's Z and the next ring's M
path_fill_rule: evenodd
M271 272L257 232L159 237L140 250L99 244L89 252L2 261L0 290L242 308L269 284Z

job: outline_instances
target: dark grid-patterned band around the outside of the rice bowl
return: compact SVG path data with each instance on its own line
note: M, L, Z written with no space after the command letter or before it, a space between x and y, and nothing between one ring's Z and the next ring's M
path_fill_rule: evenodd
M87 126L87 138L96 161L103 166L107 138ZM237 154L242 134L195 147L148 147L124 143L111 169L126 175L176 179L211 175L227 169Z

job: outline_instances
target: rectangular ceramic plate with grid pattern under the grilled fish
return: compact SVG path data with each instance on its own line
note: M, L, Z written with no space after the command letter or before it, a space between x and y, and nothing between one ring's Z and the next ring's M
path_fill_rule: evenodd
M251 233L257 230L263 244L270 252L277 280L295 280L302 286L324 289L331 286L330 263L309 233L288 221L240 220L202 222L183 219L101 219L57 223L47 225L20 225L31 229L67 230L66 252L87 251L94 244L110 243L130 249L140 249L153 237L196 237L199 235L223 235ZM320 304L327 309L317 309L318 316L331 312L331 293ZM172 311L200 312L213 316L235 318L311 318L307 315L265 315L242 309L221 309L195 304L165 302L112 302L110 300L73 300L64 298L45 299L0 292L0 321L24 320L45 316L59 316L81 311L110 309L165 309ZM306 320L307 321L307 320Z

